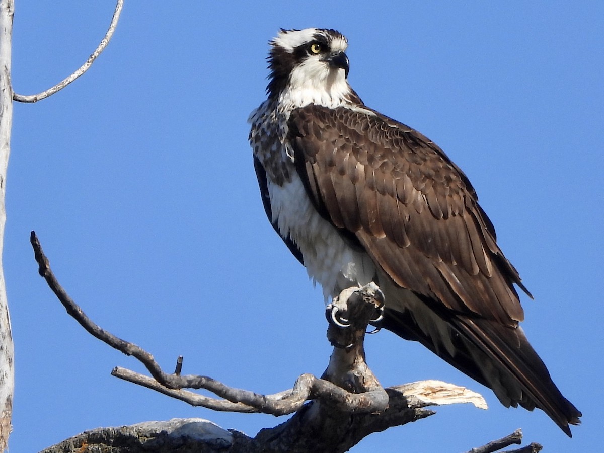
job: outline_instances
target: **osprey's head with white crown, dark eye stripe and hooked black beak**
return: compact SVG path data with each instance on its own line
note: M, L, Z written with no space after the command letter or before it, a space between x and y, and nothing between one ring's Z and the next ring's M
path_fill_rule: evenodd
M332 91L349 91L349 61L344 53L346 37L336 30L306 28L283 30L271 41L269 53L269 97L286 89L316 91L332 96Z

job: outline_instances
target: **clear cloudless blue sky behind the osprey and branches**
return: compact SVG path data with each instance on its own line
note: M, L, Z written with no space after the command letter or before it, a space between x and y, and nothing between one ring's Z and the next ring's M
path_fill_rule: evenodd
M111 2L17 2L13 86L48 88L103 37ZM580 410L572 440L418 344L367 340L384 385L442 379L488 411L440 408L353 451L461 452L522 428L548 453L600 448L602 2L129 1L91 70L15 104L4 271L15 341L12 453L97 426L204 417L254 435L285 419L213 413L112 377L143 371L88 335L37 275L54 272L97 323L166 369L261 393L320 375L330 347L320 289L269 226L247 143L278 28L349 37L349 80L372 108L420 130L471 179L535 301L528 338ZM379 449L379 450L378 450Z

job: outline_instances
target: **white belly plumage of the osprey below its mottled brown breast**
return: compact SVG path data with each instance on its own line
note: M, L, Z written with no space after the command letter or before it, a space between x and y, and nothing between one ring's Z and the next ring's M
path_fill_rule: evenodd
M350 247L316 212L298 175L282 186L269 181L268 190L273 222L300 248L308 275L321 284L326 302L342 289L373 280L376 269L371 259Z

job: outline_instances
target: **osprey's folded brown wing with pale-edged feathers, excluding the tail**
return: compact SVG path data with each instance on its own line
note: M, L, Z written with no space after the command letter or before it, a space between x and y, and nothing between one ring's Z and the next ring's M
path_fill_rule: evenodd
M310 105L289 120L300 176L324 217L356 234L402 288L515 326L516 269L466 176L416 130ZM521 286L521 288L523 288Z

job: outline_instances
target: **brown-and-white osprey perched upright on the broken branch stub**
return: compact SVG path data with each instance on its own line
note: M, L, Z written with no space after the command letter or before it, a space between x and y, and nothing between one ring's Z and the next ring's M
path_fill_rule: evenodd
M519 326L516 269L466 175L436 144L365 106L347 39L281 30L249 141L271 225L327 298L373 281L383 326L567 434L581 413Z

